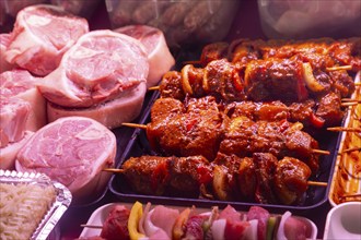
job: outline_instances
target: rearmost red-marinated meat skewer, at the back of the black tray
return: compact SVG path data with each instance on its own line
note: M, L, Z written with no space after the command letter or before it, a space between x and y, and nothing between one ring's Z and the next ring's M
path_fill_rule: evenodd
M312 65L326 71L361 70L361 38L334 40L330 38L314 41L251 40L236 39L230 45L214 43L203 47L199 63L206 67L211 60L226 58L234 63L245 64L255 59L292 58L312 62Z

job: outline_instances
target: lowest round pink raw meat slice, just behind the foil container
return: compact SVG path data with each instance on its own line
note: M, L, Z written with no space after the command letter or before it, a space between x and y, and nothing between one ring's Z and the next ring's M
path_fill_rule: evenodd
M20 149L15 168L45 173L83 202L104 190L109 175L102 170L114 166L115 155L110 130L90 118L68 117L38 130Z

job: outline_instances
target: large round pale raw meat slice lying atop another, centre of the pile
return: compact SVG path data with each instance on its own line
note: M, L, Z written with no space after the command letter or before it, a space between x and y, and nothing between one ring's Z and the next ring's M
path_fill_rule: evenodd
M63 107L90 107L118 98L147 81L149 63L140 41L112 31L83 35L58 69L38 84L42 94Z

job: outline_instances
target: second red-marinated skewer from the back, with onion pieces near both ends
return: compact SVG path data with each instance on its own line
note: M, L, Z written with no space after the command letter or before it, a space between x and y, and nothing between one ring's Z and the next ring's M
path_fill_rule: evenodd
M299 59L253 60L245 68L225 59L214 60L205 68L185 65L180 72L163 75L159 89L162 97L184 99L185 96L213 95L219 100L319 100L330 92L350 97L352 77L346 71L313 71Z

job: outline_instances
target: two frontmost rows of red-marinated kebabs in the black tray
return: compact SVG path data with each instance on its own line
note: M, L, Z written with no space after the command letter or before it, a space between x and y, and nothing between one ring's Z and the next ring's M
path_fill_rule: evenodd
M123 173L143 194L295 204L318 171L318 143L301 129L284 119L230 118L212 96L159 98L147 137L168 157L128 159Z

